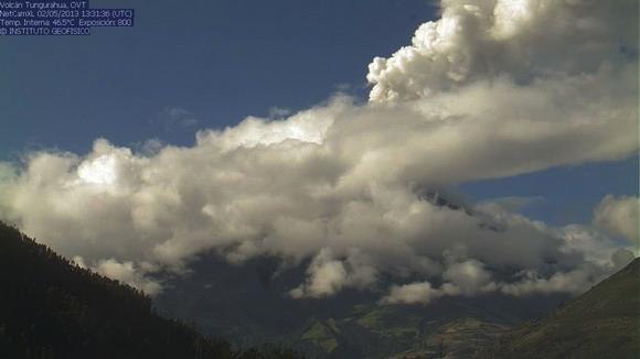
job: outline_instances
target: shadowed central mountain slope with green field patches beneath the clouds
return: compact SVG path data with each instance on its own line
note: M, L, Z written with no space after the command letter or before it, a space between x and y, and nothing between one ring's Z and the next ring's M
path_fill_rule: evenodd
M231 265L211 253L192 263L156 298L171 316L241 346L284 342L312 358L390 358L406 351L468 358L469 344L504 327L538 318L566 296L447 297L424 305L381 305L380 293L343 291L330 298L294 300L287 291L303 281L305 265L281 269L277 259ZM237 340L237 341L236 341Z

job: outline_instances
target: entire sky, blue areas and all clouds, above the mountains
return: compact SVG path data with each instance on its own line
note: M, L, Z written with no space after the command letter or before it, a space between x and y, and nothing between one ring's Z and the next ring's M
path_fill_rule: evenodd
M136 26L0 39L0 218L103 274L215 249L428 303L575 292L638 241L634 1L92 7Z

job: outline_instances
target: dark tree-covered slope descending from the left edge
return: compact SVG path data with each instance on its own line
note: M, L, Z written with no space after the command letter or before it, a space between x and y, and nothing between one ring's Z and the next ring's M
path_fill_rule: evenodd
M151 298L56 254L0 222L0 358L298 358L242 352L153 311Z

